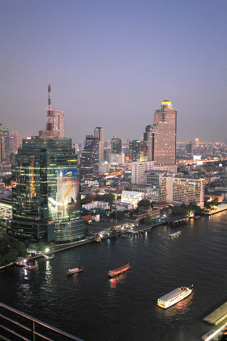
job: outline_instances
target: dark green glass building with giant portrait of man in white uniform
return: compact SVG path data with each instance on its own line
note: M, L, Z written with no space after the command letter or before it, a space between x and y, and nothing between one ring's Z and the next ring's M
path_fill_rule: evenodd
M85 239L80 215L80 174L71 139L40 131L22 140L12 178L13 219L9 236L57 245Z

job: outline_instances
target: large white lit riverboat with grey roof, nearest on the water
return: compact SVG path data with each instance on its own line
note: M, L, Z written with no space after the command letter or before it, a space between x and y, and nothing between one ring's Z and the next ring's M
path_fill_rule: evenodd
M189 287L181 286L180 288L177 288L173 291L171 291L169 294L166 294L157 300L157 305L162 308L168 308L172 306L173 304L181 301L183 298L187 297L191 294L193 289L193 284Z

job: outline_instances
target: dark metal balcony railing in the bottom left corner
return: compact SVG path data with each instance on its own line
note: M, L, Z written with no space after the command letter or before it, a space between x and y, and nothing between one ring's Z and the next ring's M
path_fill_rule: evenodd
M36 318L29 316L27 314L22 313L19 310L13 309L9 306L6 306L5 304L0 302L0 307L5 308L8 312L11 312L11 314L15 313L16 316L19 318L24 318L24 320L28 321L28 324L30 323L31 328L29 328L28 326L25 326L17 321L12 320L11 318L4 316L2 314L0 314L0 318L3 318L3 320L5 321L5 325L0 324L0 328L3 328L5 331L7 331L8 333L10 333L10 335L14 335L16 337L16 339L18 340L18 338L22 339L22 340L26 340L26 341L35 341L37 340L36 336L38 337L39 340L48 340L48 341L55 341L55 339L49 338L48 336L45 336L43 334L41 334L40 332L38 332L36 330L36 327L42 327L44 331L46 331L46 333L50 334L51 336L52 334L56 333L56 336L58 338L58 336L61 337L60 340L63 340L62 337L66 340L66 339L70 339L70 340L76 340L76 341L83 341L69 333L66 333L58 328L52 327L49 324L42 322L40 320L37 320ZM1 309L2 310L2 309ZM7 321L7 322L6 322ZM6 327L6 324L13 324L14 328L10 329L8 327ZM11 327L12 328L12 327ZM22 328L22 330L24 330L24 335L20 335L18 332L15 331L16 329L20 329ZM30 337L31 339L28 339L25 335L28 335L28 337ZM1 336L1 335L0 335ZM2 336L4 337L4 336ZM58 338L59 339L59 338Z

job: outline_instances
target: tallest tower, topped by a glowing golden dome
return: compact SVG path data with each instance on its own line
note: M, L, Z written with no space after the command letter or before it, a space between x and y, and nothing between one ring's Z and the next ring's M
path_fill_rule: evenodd
M167 99L155 110L154 123L148 132L148 160L154 166L176 165L177 110Z

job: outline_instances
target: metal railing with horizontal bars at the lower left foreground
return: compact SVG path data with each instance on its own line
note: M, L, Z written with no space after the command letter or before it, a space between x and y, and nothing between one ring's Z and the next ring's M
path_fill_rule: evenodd
M3 309L2 309L3 308ZM5 309L5 310L4 310ZM49 324L37 320L36 318L22 313L19 310L13 309L0 302L0 312L3 312L8 316L0 314L0 334L1 330L4 331L4 335L0 335L4 338L13 337L12 340L26 340L26 341L38 341L38 340L76 340L83 341L69 333L66 333L58 328L52 327ZM60 312L59 312L60 315ZM13 320L12 318L15 318ZM60 316L59 316L60 317ZM18 321L23 322L19 323ZM31 328L29 328L29 325ZM41 333L42 332L42 333ZM46 335L44 335L46 334Z

